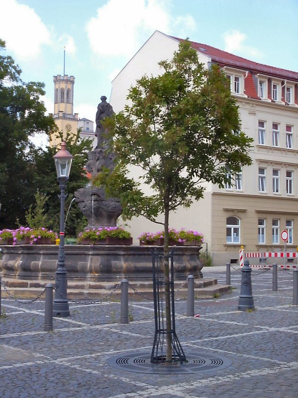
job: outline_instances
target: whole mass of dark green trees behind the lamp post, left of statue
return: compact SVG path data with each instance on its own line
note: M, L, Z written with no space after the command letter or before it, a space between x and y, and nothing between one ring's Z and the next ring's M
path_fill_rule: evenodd
M56 133L62 142L62 133L52 116L46 115L46 108L40 99L45 94L44 84L24 83L21 69L9 55L2 55L5 42L0 39L0 228L15 228L26 223L30 206L34 215L36 194L47 197L43 203L47 225L59 230L59 184L53 156L60 147L36 148L30 138L36 133ZM80 141L79 133L66 138L69 151L74 156L70 180L67 185L69 198L88 183L83 173L87 152L91 149L89 140ZM36 216L36 214L35 214ZM86 222L77 206L70 211L66 233L74 236L76 228Z

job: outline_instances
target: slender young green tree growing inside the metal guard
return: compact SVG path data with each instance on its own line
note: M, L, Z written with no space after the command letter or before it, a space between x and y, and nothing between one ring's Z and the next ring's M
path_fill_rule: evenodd
M226 167L233 175L249 165L252 139L241 132L224 73L216 65L205 69L188 41L179 44L171 61L159 65L164 73L138 80L129 90L130 104L106 121L117 166L110 175L98 175L95 184L120 197L126 217L142 214L156 222L163 214L166 360L171 360L169 214L202 198L204 182L223 187ZM128 166L137 166L137 178L127 176ZM140 181L152 195L143 193Z

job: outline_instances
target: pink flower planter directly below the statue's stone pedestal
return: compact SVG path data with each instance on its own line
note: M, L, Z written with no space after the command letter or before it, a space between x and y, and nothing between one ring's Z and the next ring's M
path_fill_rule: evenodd
M77 243L82 245L131 245L130 232L122 227L99 227L80 232Z

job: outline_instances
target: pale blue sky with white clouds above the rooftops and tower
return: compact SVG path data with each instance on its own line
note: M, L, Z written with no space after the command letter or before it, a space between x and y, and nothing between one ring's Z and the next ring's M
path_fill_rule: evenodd
M111 82L155 30L298 71L298 0L0 0L0 38L25 82L75 77L74 113L95 119ZM2 55L4 55L2 52Z

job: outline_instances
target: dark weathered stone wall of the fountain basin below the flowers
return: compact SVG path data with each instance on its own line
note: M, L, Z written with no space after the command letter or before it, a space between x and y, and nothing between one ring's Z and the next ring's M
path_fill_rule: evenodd
M152 249L154 246L87 246L66 245L65 264L71 278L92 281L152 279ZM174 275L184 278L189 274L203 277L199 259L201 246L174 247ZM0 273L15 279L54 277L57 268L58 246L17 245L2 246ZM157 247L160 254L163 247Z

